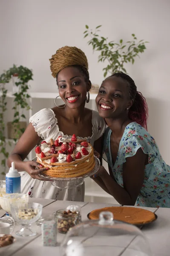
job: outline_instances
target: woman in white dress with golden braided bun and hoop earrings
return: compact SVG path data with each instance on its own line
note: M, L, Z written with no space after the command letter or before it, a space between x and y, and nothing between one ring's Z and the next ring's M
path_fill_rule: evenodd
M30 118L26 131L9 156L8 165L14 162L17 170L25 171L21 176L21 192L30 197L84 201L84 184L74 189L58 189L38 176L44 171L44 168L38 169L41 165L23 161L41 140L49 142L59 136L67 139L73 134L79 139L85 138L102 152L106 123L98 112L85 108L91 88L86 55L77 47L66 46L58 49L49 61L64 104L58 106L55 99L55 108L44 108Z

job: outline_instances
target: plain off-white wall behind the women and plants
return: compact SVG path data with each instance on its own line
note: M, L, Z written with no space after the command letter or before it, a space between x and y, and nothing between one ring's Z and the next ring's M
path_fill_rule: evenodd
M83 39L85 24L102 24L110 40L130 39L135 33L149 41L147 51L127 71L147 98L149 132L164 160L169 157L170 110L170 1L169 0L1 0L0 73L13 63L33 70L31 91L55 92L49 58L62 46L80 47L89 60L93 83L103 80L103 64Z

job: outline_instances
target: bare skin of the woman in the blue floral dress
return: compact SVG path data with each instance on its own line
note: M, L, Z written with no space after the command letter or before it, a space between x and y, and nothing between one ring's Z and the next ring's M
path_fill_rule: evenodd
M113 165L115 164L124 129L132 122L128 117L128 109L133 104L133 100L130 99L129 89L130 87L127 81L112 76L104 80L96 97L99 115L106 120L107 125L112 131L110 149ZM126 158L126 162L123 165L123 187L115 181L110 166L109 174L101 166L94 180L96 177L100 177L109 190L109 194L119 204L134 205L144 182L144 167L147 164L148 155L144 154L142 149L139 148L133 157Z

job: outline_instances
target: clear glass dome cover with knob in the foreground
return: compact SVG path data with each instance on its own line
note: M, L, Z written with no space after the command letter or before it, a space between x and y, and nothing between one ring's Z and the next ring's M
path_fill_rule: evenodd
M101 212L99 220L72 227L60 245L60 256L152 256L141 230L116 221L112 212Z

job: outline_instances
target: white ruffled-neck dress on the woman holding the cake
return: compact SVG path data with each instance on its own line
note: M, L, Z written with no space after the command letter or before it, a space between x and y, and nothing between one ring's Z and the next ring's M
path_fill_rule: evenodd
M64 139L70 139L72 137L71 135L63 134L59 130L58 120L52 109L44 108L38 111L29 119L29 122L34 126L38 136L42 140L46 140L46 142L49 142L51 138L56 140L58 136L62 136ZM86 139L93 146L95 140L98 140L104 134L105 128L106 123L104 119L98 115L98 112L92 111L92 136L85 138L78 137L78 139ZM21 193L35 198L84 201L84 183L73 189L58 189L52 186L50 181L32 179L27 172L22 172Z

